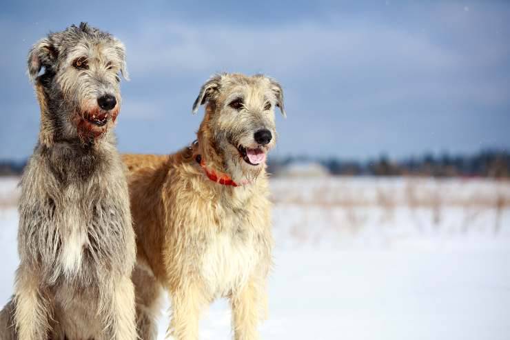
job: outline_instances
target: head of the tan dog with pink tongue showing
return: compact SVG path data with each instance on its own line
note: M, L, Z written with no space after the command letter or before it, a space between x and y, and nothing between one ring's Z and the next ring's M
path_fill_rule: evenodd
M276 143L274 109L285 116L280 84L261 74L218 74L201 87L193 112L203 104L198 141L207 160L234 181L255 179Z

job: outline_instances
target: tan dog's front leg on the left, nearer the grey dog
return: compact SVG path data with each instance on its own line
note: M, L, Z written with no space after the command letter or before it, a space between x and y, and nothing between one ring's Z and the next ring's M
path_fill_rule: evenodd
M203 292L196 285L183 287L171 293L172 321L167 335L176 340L198 340L198 321L205 305Z

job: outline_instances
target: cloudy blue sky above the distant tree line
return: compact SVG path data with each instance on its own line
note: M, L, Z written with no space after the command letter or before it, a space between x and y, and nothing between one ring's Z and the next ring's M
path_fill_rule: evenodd
M279 157L510 149L508 1L41 3L2 4L0 159L27 157L36 143L30 46L80 21L128 51L122 152L190 143L202 116L191 114L198 89L221 71L283 84Z

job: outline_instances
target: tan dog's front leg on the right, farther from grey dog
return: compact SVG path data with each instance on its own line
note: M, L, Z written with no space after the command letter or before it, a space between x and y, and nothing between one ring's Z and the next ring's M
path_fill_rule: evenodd
M265 294L262 290L263 287L257 281L250 280L243 289L230 298L234 339L258 339L258 321L265 309Z

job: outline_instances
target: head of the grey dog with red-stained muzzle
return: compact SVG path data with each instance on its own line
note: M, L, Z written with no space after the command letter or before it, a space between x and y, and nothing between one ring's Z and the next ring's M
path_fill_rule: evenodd
M39 40L28 54L28 76L36 83L41 130L87 141L105 134L121 107L119 75L128 77L123 44L87 23Z

